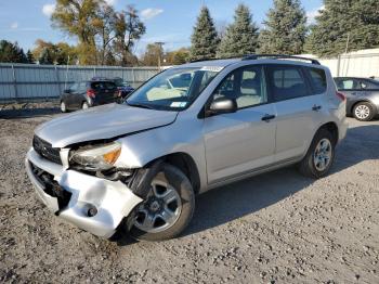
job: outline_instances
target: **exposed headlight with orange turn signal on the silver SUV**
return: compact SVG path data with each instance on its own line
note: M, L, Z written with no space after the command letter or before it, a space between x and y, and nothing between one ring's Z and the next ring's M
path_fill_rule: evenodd
M82 147L69 156L70 164L77 164L87 170L107 170L114 167L121 154L121 144L113 142L102 146Z

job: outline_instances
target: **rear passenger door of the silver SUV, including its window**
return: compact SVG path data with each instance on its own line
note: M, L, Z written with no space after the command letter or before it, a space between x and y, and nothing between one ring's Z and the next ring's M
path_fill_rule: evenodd
M304 155L323 121L326 75L318 68L280 64L269 65L267 77L277 116L275 162L290 162Z

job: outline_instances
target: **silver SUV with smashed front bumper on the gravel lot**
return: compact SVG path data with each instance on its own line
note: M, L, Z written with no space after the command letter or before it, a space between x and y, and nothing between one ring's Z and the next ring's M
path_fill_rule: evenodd
M304 61L249 55L167 69L123 104L38 127L27 173L56 216L95 235L174 237L209 189L289 165L328 172L347 132L344 96L328 68Z

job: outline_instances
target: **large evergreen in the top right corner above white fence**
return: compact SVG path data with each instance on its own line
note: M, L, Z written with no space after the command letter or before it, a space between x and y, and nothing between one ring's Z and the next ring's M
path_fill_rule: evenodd
M319 56L379 47L378 0L325 0L305 50Z

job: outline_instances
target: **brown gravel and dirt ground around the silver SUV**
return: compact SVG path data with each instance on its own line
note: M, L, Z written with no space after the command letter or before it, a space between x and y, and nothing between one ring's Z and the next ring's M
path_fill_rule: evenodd
M181 237L133 243L97 238L36 201L24 157L54 112L0 114L11 116L0 117L0 282L379 283L378 120L349 120L329 177L286 168L220 188L197 198Z

